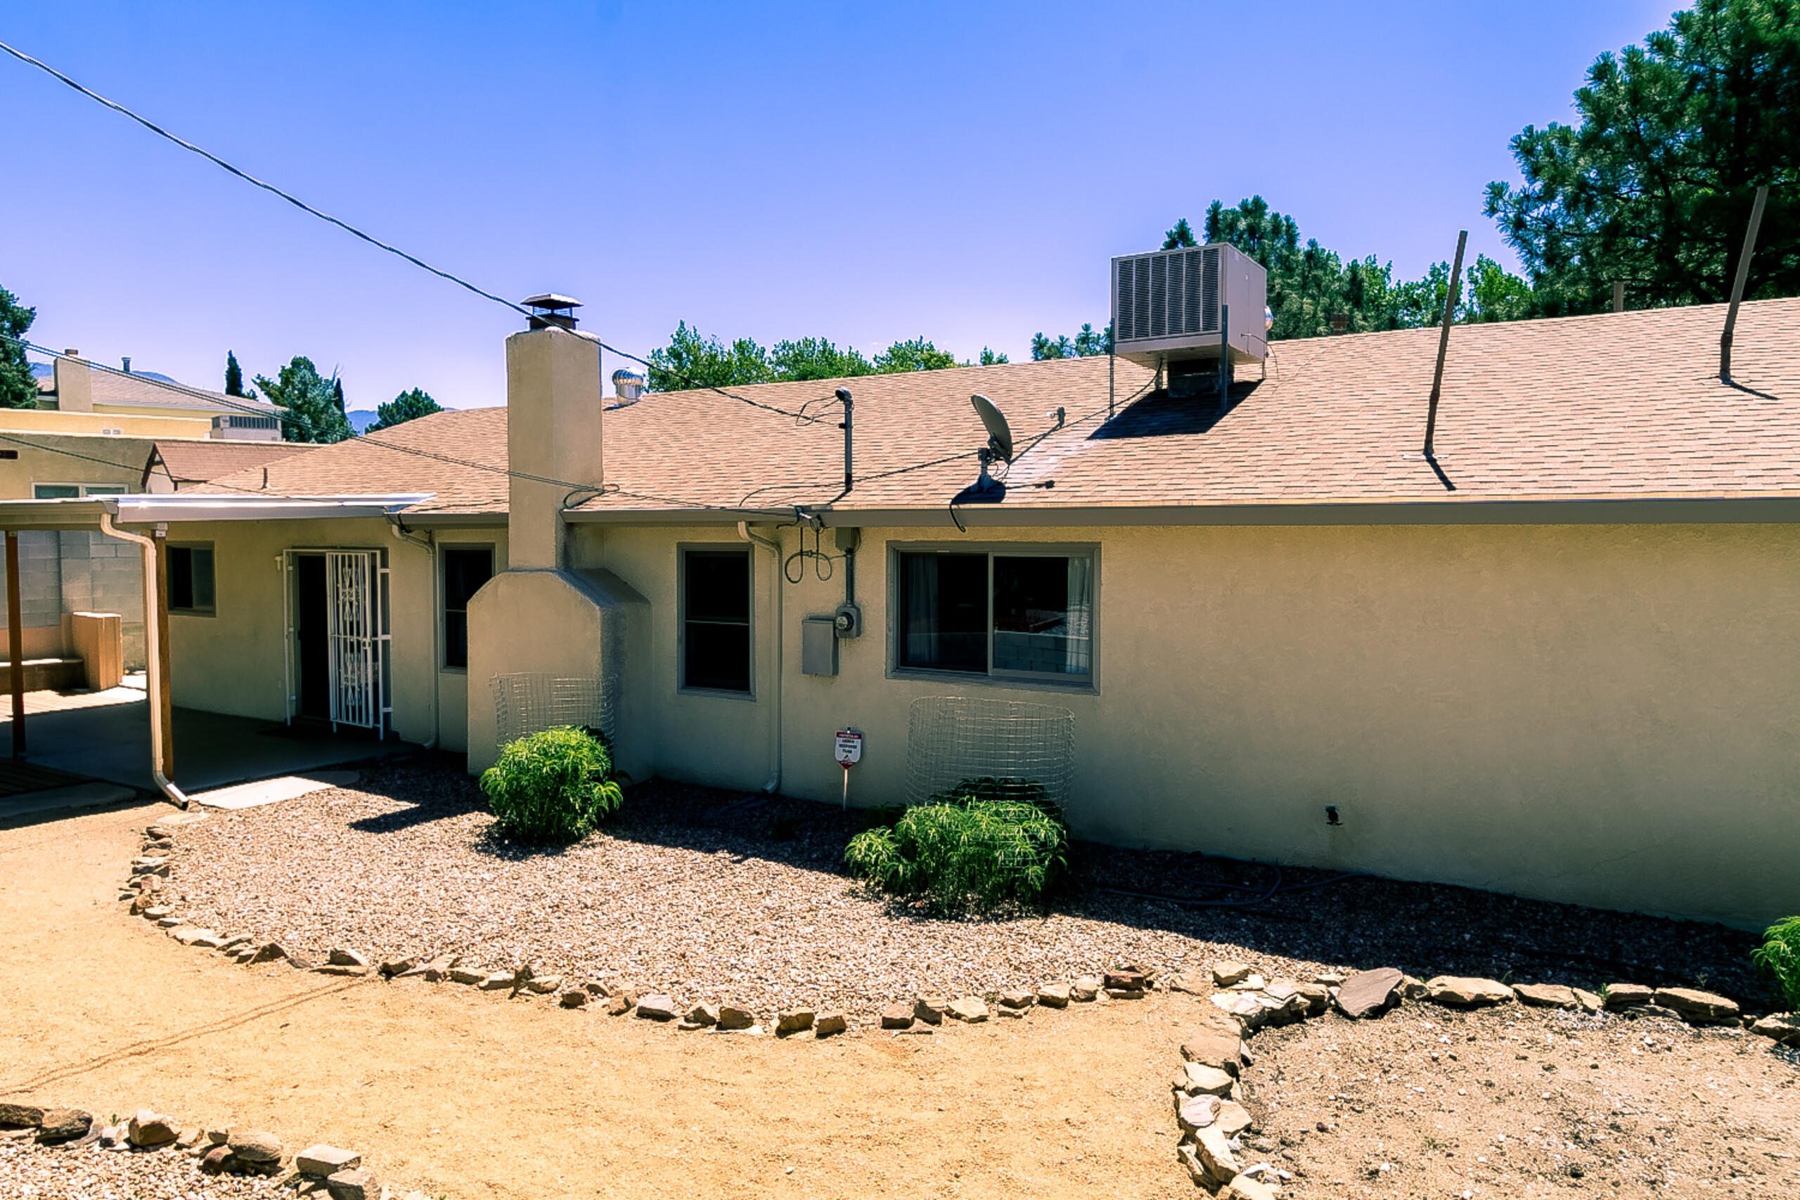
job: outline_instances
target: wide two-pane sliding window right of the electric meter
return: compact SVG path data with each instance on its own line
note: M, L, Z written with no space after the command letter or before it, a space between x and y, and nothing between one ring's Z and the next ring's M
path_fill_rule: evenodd
M1091 554L902 552L896 599L902 667L1093 678Z

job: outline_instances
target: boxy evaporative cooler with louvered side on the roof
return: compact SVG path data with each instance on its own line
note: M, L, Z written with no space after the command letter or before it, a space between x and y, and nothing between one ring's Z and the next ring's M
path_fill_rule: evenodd
M1150 369L1217 360L1220 304L1229 306L1231 362L1262 362L1267 302L1267 272L1229 243L1112 259L1112 345Z

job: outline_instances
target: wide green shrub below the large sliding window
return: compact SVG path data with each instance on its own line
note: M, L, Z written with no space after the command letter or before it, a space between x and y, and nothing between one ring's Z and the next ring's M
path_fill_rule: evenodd
M900 813L893 828L850 838L859 880L941 905L1031 901L1067 865L1069 833L1026 779L965 779Z

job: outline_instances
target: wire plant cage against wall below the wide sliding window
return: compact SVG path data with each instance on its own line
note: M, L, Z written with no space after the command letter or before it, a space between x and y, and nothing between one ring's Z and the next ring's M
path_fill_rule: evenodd
M1064 808L1075 783L1075 712L1022 700L920 696L907 714L905 802L963 779L1026 779Z

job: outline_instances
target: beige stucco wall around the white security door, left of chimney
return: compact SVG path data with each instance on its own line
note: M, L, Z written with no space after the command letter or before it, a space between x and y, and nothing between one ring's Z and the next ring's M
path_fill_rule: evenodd
M423 536L423 534L414 534ZM439 543L495 547L506 569L504 529L439 531ZM216 615L169 615L169 684L175 703L256 716L286 716L288 639L283 552L290 549L382 549L389 565L389 630L392 633L392 721L405 741L434 736L446 750L466 745L466 673L439 667L441 621L425 549L396 538L383 520L308 522L184 522L171 542L211 542ZM437 675L437 714L432 675Z

